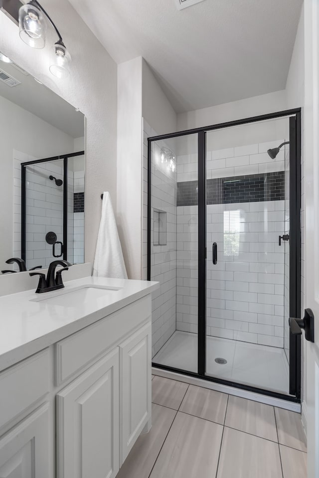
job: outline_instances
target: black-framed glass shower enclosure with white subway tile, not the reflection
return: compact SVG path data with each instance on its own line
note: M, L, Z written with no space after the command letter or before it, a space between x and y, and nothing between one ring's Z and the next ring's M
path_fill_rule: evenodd
M148 138L153 366L300 401L301 110Z

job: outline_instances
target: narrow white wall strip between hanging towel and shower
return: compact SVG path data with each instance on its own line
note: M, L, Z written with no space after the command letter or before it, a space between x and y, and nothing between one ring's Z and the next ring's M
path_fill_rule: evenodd
M142 57L118 65L117 224L130 279L142 268Z

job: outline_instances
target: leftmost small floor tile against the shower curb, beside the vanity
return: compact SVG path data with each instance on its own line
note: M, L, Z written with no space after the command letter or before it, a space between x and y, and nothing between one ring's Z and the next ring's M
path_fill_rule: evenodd
M155 376L152 380L152 402L178 410L188 383Z

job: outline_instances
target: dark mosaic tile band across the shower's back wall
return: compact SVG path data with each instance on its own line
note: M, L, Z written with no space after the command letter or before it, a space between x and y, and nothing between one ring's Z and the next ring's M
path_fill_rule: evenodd
M198 205L198 182L177 183L177 206ZM206 181L207 204L281 201L285 199L285 171L249 174Z

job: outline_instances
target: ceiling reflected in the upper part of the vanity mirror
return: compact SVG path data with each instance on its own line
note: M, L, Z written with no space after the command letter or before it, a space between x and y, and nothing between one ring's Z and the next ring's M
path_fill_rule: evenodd
M60 129L72 138L84 136L84 115L14 63L0 61L0 69L21 84L10 88L0 81L0 96Z

